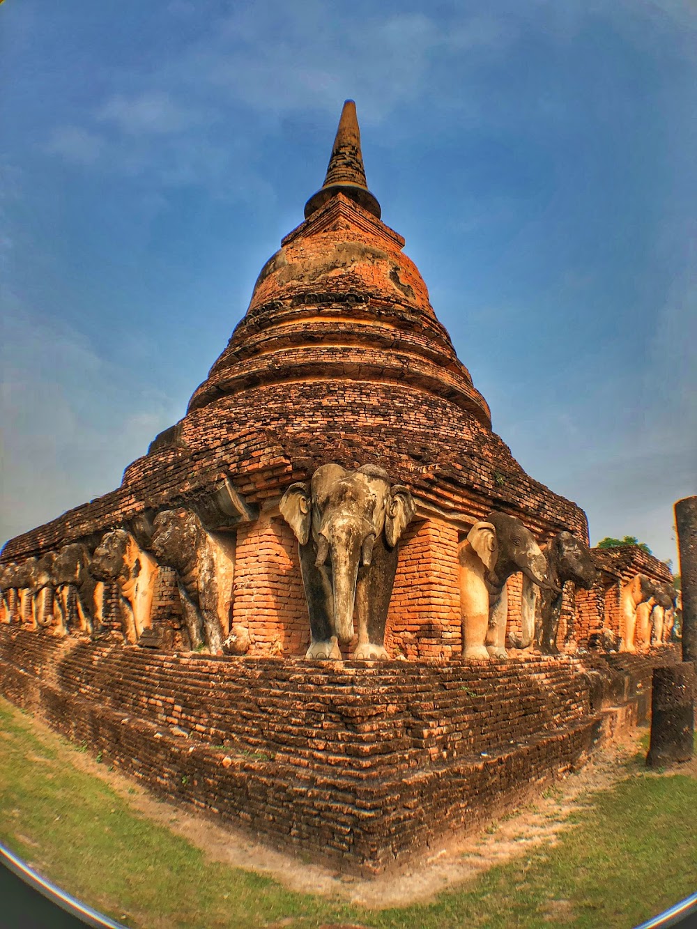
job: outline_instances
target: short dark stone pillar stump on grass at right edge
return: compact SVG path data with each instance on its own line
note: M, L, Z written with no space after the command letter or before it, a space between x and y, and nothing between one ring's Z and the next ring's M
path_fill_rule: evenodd
M694 689L691 663L653 669L647 765L663 767L690 761L694 745Z

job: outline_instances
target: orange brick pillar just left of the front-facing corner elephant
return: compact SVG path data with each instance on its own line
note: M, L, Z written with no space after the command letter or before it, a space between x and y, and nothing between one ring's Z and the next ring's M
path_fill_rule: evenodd
M237 530L232 622L248 630L251 655L304 655L308 648L297 542L282 517L262 513Z

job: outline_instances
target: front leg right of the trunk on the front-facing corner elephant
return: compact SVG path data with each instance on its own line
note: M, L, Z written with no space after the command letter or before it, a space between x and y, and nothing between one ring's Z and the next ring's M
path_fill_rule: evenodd
M397 573L397 558L397 547L389 549L380 536L375 540L370 565L358 571L355 608L358 644L353 652L354 661L389 658L385 648L385 626Z

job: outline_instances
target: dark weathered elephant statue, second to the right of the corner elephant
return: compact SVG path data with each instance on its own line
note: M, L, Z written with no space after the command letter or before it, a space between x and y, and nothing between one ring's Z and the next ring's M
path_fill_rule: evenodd
M557 633L561 617L564 584L571 581L577 587L590 590L598 580L598 569L588 546L572 532L562 530L545 546L547 562L546 582L557 587L543 588L538 605L538 620L535 623L535 641L546 655L559 654ZM572 629L567 630L567 639Z

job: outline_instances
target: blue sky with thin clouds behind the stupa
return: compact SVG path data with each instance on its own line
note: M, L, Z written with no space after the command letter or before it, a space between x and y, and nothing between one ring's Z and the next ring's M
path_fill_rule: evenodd
M676 558L697 493L697 10L670 0L0 7L0 537L185 412L322 184L368 183L534 478Z

